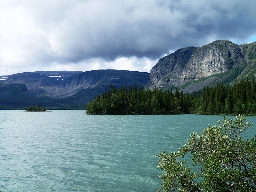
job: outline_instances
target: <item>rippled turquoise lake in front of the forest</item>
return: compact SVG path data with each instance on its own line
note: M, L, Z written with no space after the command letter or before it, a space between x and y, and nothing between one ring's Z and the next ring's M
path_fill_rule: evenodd
M0 110L0 191L156 191L155 155L177 151L193 131L222 119Z

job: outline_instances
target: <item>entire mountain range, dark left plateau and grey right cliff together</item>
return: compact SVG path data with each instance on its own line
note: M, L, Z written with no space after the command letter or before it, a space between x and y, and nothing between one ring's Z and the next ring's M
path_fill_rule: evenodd
M194 92L217 83L256 74L256 42L214 41L202 47L181 48L161 58L150 73L124 70L36 71L0 77L0 109L34 105L70 108L86 105L109 85L146 85Z

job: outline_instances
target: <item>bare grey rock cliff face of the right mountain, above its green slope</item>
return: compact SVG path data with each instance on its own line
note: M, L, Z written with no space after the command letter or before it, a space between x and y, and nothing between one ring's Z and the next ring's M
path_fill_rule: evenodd
M151 69L148 86L179 87L232 68L255 64L255 43L237 45L220 40L202 47L179 49L160 59Z

